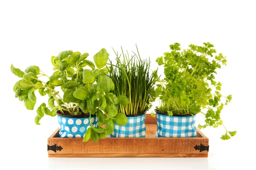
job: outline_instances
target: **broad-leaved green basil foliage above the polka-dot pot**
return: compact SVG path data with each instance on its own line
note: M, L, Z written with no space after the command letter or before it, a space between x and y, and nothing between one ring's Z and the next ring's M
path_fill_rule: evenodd
M90 114L99 119L99 126L87 129L84 142L91 139L105 139L114 130L114 122L125 125L128 120L123 113L118 113L119 105L126 105L126 96L116 96L110 93L115 88L113 81L108 77L108 68L105 67L109 54L102 48L94 55L94 62L87 60L88 53L62 51L58 56L52 56L51 61L55 72L47 76L38 66L32 65L23 72L11 65L11 71L21 79L13 87L15 97L24 102L28 110L33 110L36 103L35 91L41 96L48 95L48 106L42 103L37 109L35 123L44 115L55 116L58 111L65 115ZM97 68L95 68L95 65ZM90 69L84 69L89 66ZM47 79L43 81L41 77ZM57 90L58 88L58 90ZM64 94L61 95L61 90ZM105 114L103 113L105 112Z

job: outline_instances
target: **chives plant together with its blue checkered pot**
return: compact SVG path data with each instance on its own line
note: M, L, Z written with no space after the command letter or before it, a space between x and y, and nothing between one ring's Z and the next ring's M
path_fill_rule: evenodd
M157 81L157 70L151 74L150 60L141 59L137 54L116 53L116 65L110 67L110 78L116 85L111 92L127 97L128 101L119 105L118 110L127 116L126 125L115 125L110 137L145 137L145 113L151 108L151 102L156 99L154 84ZM112 62L111 62L112 65Z

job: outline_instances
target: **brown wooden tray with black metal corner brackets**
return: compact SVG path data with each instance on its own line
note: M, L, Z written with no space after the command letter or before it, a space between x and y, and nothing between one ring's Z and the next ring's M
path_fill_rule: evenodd
M157 120L146 114L145 138L106 138L97 143L82 138L48 138L49 157L208 157L209 139L197 129L196 138L155 138Z

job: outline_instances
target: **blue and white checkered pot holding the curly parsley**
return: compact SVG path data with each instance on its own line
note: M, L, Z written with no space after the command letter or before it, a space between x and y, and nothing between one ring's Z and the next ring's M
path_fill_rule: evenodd
M166 116L157 113L155 137L196 137L195 116Z

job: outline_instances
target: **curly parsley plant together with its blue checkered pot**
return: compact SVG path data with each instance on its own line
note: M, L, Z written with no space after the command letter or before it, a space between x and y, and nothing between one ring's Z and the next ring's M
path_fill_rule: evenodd
M199 129L223 125L221 110L232 99L231 95L221 95L221 82L215 81L216 70L226 65L226 57L220 53L212 58L216 50L209 42L189 47L180 51L180 44L174 43L170 45L171 52L156 60L164 66L165 74L156 88L161 101L155 110L158 137L196 137L196 114L206 118L205 125L198 125ZM221 139L236 135L236 131L225 130Z

